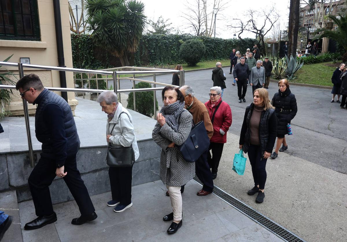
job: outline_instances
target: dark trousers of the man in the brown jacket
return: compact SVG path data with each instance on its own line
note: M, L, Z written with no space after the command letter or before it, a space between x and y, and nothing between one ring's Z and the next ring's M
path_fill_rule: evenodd
M195 161L195 174L203 183L202 189L206 192L212 192L213 180L210 166L207 162L207 153L209 150L204 151L202 155Z

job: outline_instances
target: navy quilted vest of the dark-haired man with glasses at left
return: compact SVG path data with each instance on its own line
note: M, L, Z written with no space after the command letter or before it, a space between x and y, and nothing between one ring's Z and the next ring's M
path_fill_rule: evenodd
M42 153L54 154L54 152L52 152L50 133L47 124L43 121L43 110L49 103L58 104L64 112L64 128L67 139L67 154L72 155L74 153L77 153L80 142L70 105L61 96L49 91L48 89L44 89L36 98L34 103L37 104L35 114L35 133L37 140L42 143Z

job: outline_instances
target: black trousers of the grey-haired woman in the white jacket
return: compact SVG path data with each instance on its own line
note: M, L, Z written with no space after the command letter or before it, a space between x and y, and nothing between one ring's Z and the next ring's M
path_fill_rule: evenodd
M112 200L119 201L120 205L131 203L131 182L133 179L133 166L110 167L109 177Z

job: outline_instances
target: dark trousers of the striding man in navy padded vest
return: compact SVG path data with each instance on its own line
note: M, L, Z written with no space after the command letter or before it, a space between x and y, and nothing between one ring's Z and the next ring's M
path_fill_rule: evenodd
M79 211L82 215L91 214L95 209L77 169L76 155L66 158L64 170L67 175L63 179L75 198ZM49 191L49 186L52 184L54 177L56 177L55 162L43 158L37 162L29 176L28 183L37 216L48 216L54 212Z

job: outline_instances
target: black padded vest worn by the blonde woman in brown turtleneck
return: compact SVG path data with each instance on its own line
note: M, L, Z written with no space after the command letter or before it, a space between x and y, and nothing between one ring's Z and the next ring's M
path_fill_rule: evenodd
M248 105L246 108L246 112L248 112L247 118L246 118L247 130L245 133L245 143L242 147L245 153L247 153L249 148L249 139L251 136L251 125L249 123L249 120L251 119L253 109L254 109L253 103L251 103L251 105ZM266 111L263 110L261 112L260 123L259 123L259 139L260 139L260 150L262 153L262 157L264 156L265 148L269 142L269 119L274 111L275 110L273 109L268 109Z

